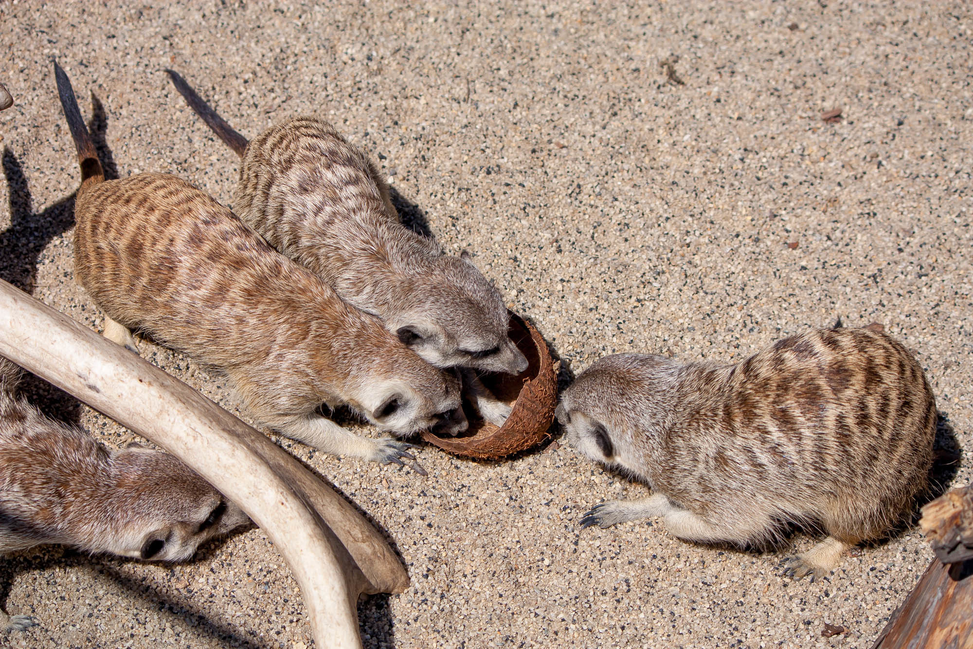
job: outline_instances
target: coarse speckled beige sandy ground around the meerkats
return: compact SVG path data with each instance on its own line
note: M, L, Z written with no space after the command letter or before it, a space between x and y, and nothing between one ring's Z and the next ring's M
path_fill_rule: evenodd
M409 220L475 255L565 378L613 352L731 361L838 317L879 322L928 372L947 445L973 448L968 3L420 4L0 4L17 101L0 114L0 274L100 330L72 281L79 172L52 57L120 175L177 173L230 203L237 161L173 67L248 136L294 114L333 121ZM822 122L836 106L844 119ZM234 408L219 377L142 351ZM30 393L108 444L129 437ZM279 443L409 566L407 592L360 608L369 647L868 647L932 556L912 529L794 583L778 562L806 534L756 554L648 522L579 530L590 506L644 488L566 445L504 463L425 447L419 477ZM41 622L12 646L311 643L259 529L187 565L59 548L0 565L0 603ZM825 622L848 631L822 637Z

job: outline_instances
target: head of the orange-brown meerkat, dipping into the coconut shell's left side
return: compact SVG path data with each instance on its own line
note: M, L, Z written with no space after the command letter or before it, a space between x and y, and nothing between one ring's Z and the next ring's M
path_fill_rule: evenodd
M355 409L382 431L405 437L419 431L459 435L468 423L460 401L459 377L454 370L433 367L404 350L386 366L359 380Z

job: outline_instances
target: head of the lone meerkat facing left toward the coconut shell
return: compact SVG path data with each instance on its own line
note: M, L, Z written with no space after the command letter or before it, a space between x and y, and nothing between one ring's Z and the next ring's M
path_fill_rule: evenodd
M640 438L664 426L673 371L666 357L616 354L597 361L561 395L555 415L583 455L644 476Z

